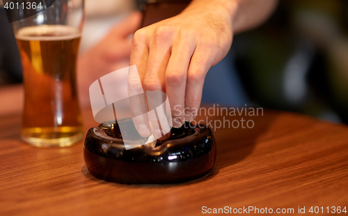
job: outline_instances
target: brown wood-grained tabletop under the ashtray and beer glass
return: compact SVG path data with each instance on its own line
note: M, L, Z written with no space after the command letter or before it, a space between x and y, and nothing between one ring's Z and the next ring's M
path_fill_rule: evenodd
M97 126L90 111L84 119L86 130ZM121 185L88 173L82 142L31 147L19 140L20 115L1 116L0 215L201 215L225 206L294 208L297 214L303 206L306 213L311 206L323 206L324 212L327 206L348 208L347 126L274 111L244 119L255 126L214 133L217 158L207 177L175 185Z

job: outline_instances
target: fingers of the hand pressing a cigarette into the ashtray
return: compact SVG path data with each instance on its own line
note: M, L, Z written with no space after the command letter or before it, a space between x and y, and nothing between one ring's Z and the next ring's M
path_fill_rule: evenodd
M139 130L141 135L149 135L151 131L157 139L168 138L171 128L168 110L173 116L174 127L180 127L184 120L191 121L196 117L205 74L214 61L214 58L209 58L212 49L198 48L200 47L196 47L196 40L190 34L175 33L164 26L150 31L142 28L134 34L130 65L138 68L139 82L143 84L148 108L147 119L144 115L133 119L138 130L140 124L141 128L145 128L143 133ZM132 85L134 83L129 82L131 88ZM140 90L141 84L133 88ZM168 101L159 103L159 97L150 95L151 92L166 92L170 105ZM140 115L144 112L145 106L139 108L135 101L131 103L134 103L132 113Z

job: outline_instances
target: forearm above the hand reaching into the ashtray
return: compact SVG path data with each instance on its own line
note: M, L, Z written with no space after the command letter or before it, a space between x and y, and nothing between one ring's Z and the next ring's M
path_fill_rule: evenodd
M226 19L233 33L262 24L276 7L278 0L193 0L185 11L214 13Z

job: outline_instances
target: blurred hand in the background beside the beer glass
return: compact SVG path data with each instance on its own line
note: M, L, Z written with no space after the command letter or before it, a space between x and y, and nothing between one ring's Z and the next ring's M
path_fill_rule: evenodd
M77 81L82 106L90 104L88 94L90 84L116 69L129 66L129 50L132 42L129 35L133 34L140 24L141 13L132 13L113 27L103 40L88 49L79 58ZM125 85L124 88L127 89L127 83L120 84Z

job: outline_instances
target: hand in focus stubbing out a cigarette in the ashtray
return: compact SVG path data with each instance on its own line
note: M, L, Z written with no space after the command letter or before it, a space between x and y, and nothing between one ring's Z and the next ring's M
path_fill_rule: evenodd
M231 43L232 20L227 10L214 6L189 7L180 15L136 31L130 65L136 65L145 91L166 92L173 127L180 127L185 120L195 119L205 74L226 56ZM128 82L130 89L141 91L139 83ZM159 116L161 118L164 117ZM157 119L150 117L134 121L143 136L154 133L152 125L157 125L155 123ZM154 135L161 136L160 133ZM168 133L161 139L166 138Z

